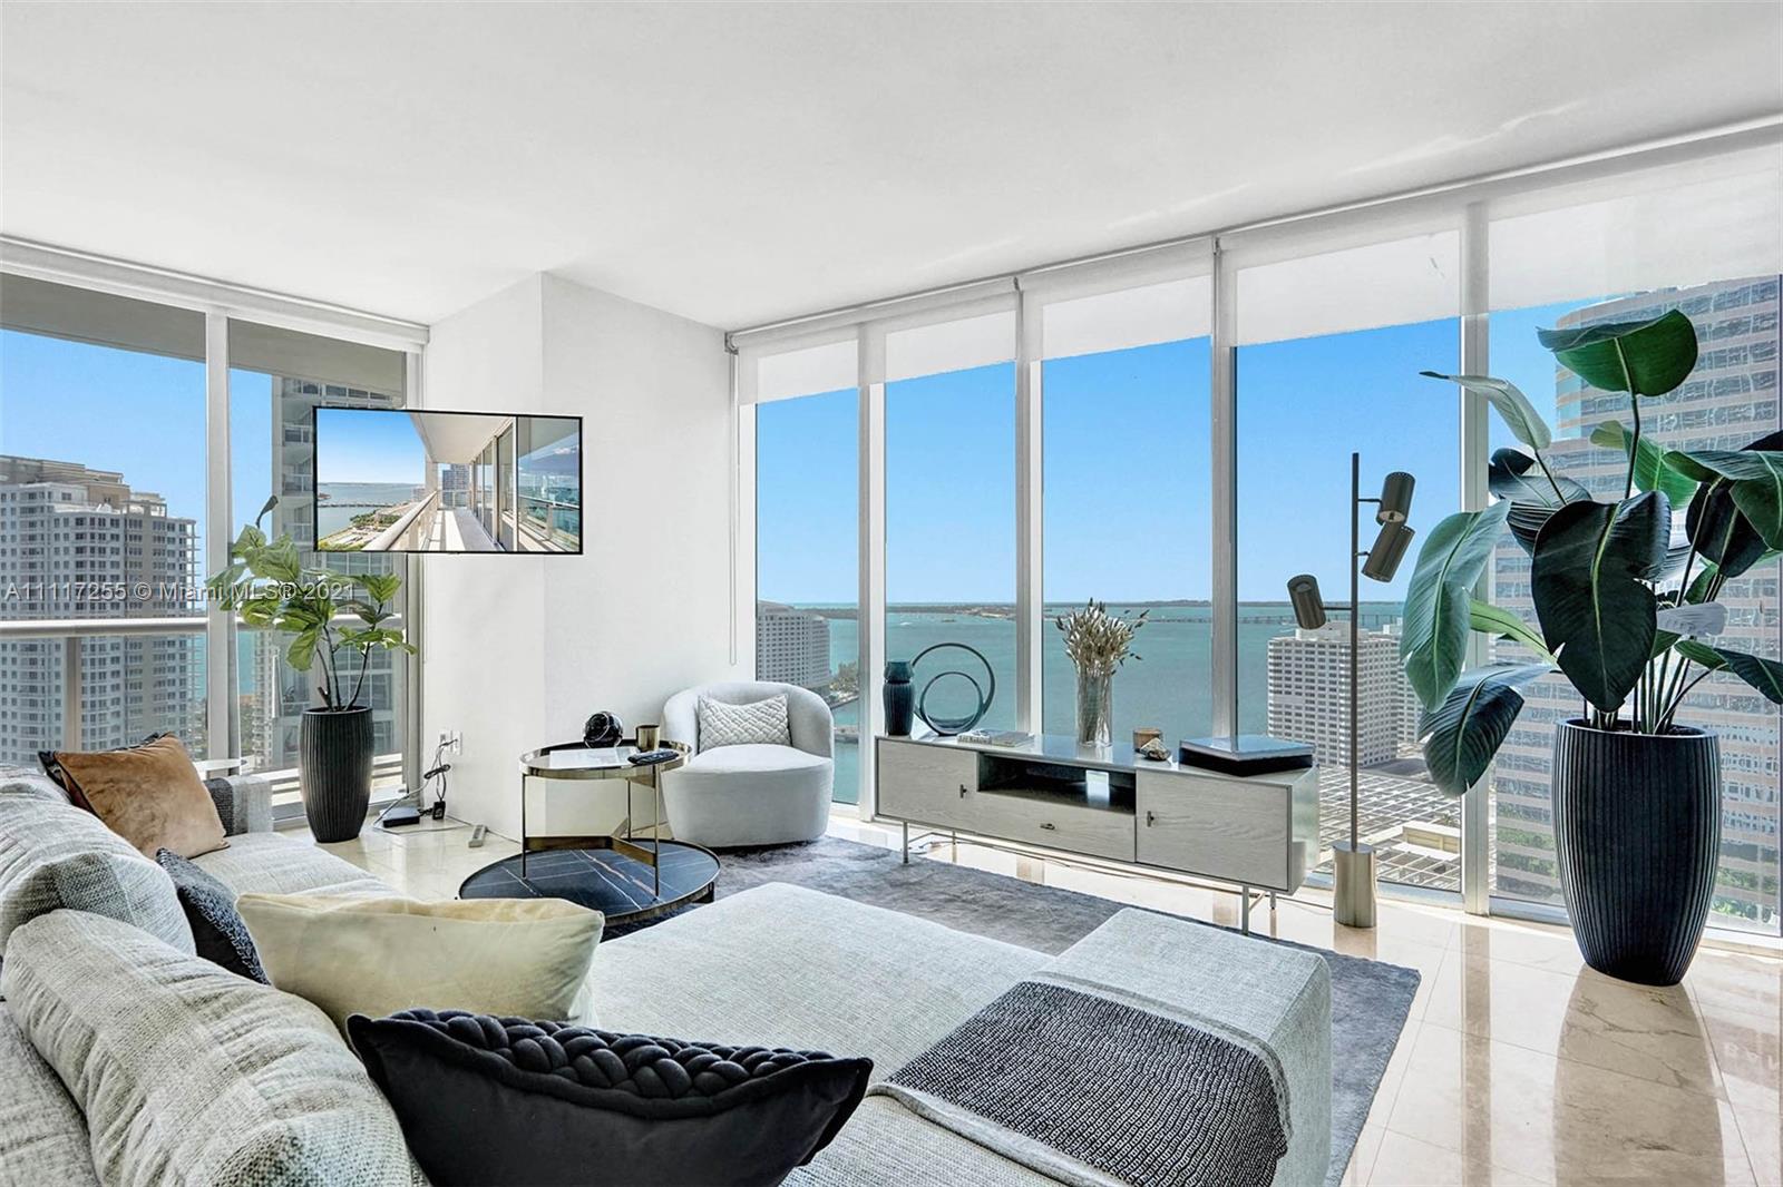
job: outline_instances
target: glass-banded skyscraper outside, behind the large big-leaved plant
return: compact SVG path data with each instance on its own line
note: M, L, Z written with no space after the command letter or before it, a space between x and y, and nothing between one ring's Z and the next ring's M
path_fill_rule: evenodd
M1701 356L1674 392L1642 397L1642 433L1669 449L1740 449L1783 428L1778 408L1778 276L1647 292L1601 301L1558 319L1560 328L1606 321L1647 321L1671 308L1696 323ZM1532 399L1541 399L1530 392ZM1565 369L1555 371L1555 471L1582 481L1599 499L1623 495L1626 456L1590 442L1605 422L1628 422L1628 396L1599 392ZM1683 510L1672 508L1683 533ZM1535 622L1530 558L1512 540L1494 553L1494 602ZM1776 658L1778 561L1754 567L1721 594L1728 606L1728 647ZM1521 649L1498 645L1501 654ZM1560 900L1553 839L1551 756L1555 722L1578 716L1571 684L1549 679L1524 690L1526 706L1494 765L1494 863L1500 893L1539 902ZM1763 697L1728 675L1697 686L1680 724L1721 738L1722 823L1717 920L1774 925L1778 904L1778 713Z

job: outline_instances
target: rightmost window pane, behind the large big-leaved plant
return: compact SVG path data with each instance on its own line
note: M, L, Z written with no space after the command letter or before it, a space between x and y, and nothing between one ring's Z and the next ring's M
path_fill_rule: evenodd
M1626 458L1592 442L1608 424L1631 426L1626 394L1592 389L1535 337L1539 328L1649 321L1678 308L1696 324L1696 371L1674 392L1642 399L1642 435L1667 449L1742 449L1783 430L1778 367L1779 287L1774 271L1751 274L1779 232L1765 219L1776 173L1730 168L1712 176L1656 176L1633 192L1587 187L1503 203L1491 225L1491 371L1516 383L1551 424L1549 465L1599 499L1623 495ZM1494 422L1494 449L1517 447ZM1685 506L1674 531L1685 533ZM1765 560L1726 583L1719 643L1778 658L1779 565ZM1528 556L1500 545L1494 601L1532 620ZM1517 649L1496 645L1501 654ZM1578 715L1562 679L1524 690L1526 708L1492 768L1492 893L1562 902L1551 811L1555 722ZM1680 722L1721 741L1721 863L1712 921L1778 929L1778 711L1742 681L1703 681Z

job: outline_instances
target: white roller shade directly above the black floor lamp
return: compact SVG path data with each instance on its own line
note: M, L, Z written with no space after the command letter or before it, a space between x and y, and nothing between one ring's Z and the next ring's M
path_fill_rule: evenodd
M1234 251L1239 346L1460 315L1460 230L1414 232L1246 266Z

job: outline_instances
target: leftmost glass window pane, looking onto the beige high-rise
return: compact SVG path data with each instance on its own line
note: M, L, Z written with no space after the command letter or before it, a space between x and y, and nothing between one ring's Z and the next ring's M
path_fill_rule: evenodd
M0 761L175 733L209 745L205 319L0 282L0 622L182 618L155 634L0 636ZM64 690L78 667L78 736Z

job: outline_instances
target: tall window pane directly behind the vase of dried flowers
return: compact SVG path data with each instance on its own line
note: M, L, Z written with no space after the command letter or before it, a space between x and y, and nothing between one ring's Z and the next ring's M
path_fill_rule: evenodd
M1212 729L1209 285L1204 274L1041 299L1041 722L1075 729L1054 620L1088 599L1145 618L1113 736ZM1043 294L1045 296L1045 294ZM1034 317L1031 308L1029 317Z

